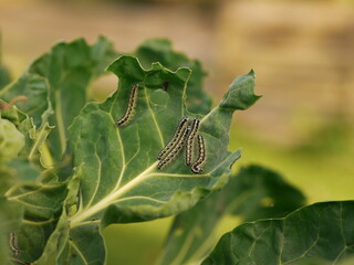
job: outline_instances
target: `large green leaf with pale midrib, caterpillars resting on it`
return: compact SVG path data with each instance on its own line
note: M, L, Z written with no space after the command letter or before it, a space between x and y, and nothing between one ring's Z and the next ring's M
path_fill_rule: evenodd
M200 117L199 134L207 151L202 173L191 173L184 156L157 170L157 155L178 121L185 115L195 117L186 112L184 102L190 70L170 72L156 63L145 71L135 57L122 56L108 71L119 77L117 92L102 104L86 105L70 128L74 166L83 165L81 203L71 218L72 227L93 218L103 218L107 225L167 216L220 189L230 165L240 156L228 151L233 110L216 107ZM166 80L167 92L162 88ZM125 113L132 84L139 84L135 114L126 127L117 128L115 120Z

